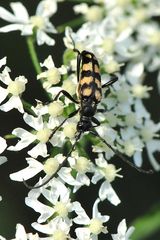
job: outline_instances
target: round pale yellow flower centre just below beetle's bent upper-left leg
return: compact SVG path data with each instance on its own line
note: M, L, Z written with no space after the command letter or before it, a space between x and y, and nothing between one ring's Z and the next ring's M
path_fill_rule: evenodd
M52 116L52 117L57 117L62 115L63 113L63 103L60 101L55 101L49 104L48 106L48 113Z

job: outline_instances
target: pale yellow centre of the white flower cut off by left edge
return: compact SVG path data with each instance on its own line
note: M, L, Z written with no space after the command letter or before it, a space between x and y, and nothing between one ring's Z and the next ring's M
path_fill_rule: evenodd
M8 93L11 93L13 96L18 96L25 91L25 82L20 81L21 77L11 81L7 87Z

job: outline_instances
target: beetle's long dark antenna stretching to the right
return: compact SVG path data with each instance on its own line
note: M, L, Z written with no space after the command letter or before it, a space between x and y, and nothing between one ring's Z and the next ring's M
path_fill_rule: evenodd
M136 165L134 165L132 162L130 162L120 151L118 151L117 149L113 148L109 143L107 143L105 141L105 139L103 139L96 131L91 131L91 133L98 137L107 147L109 147L118 157L120 157L124 162L126 162L128 165L130 165L131 167L135 168L138 172L141 173L145 173L145 174L152 174L153 171L150 170L144 170L141 169L139 167L137 167Z

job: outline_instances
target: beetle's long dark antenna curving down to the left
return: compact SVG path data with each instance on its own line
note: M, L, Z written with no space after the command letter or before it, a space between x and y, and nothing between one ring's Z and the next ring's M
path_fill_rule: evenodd
M65 159L63 160L63 163L58 167L57 171L54 172L45 182L43 182L42 184L36 185L36 186L31 186L29 185L24 179L23 179L23 183L24 185L28 188L28 189L37 189L40 187L45 186L47 183L49 183L50 180L52 180L54 178L54 176L57 174L57 172L60 170L61 167L63 167L67 161L67 159L69 158L69 156L71 155L71 153L73 152L78 140L81 137L81 132L77 132L76 133L76 137L75 137L75 142L71 147L71 150L69 151L69 153L67 154L67 156L65 157Z

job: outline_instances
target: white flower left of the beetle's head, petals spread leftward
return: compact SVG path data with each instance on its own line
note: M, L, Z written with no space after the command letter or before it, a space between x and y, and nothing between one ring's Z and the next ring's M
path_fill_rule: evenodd
M50 141L52 128L50 128L48 123L43 122L42 116L33 117L32 115L25 113L23 119L32 129L36 130L35 134L28 132L23 128L14 129L12 134L16 135L21 140L15 146L10 146L8 150L20 151L34 141L38 141L38 144L28 151L28 154L33 158L37 158L37 156L47 157L46 143Z

